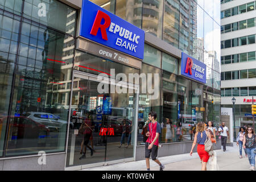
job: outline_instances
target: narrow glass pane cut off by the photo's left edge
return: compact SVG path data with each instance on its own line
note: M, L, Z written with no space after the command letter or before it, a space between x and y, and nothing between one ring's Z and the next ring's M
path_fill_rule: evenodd
M3 1L5 2L5 1ZM9 2L6 1L6 6ZM0 156L3 155L19 21L0 14Z

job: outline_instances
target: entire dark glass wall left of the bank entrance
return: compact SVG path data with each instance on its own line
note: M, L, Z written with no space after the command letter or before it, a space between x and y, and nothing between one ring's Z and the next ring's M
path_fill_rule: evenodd
M2 156L64 151L75 28L59 1L0 1Z

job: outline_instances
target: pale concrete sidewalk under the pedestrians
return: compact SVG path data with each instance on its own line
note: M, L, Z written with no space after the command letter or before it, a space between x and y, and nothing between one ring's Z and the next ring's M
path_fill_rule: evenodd
M243 158L239 158L239 147L234 143L233 147L226 147L226 152L223 150L215 150L217 153L217 164L220 171L250 171L249 160L245 158L245 152L243 152ZM189 154L180 154L172 156L164 156L159 158L160 162L164 164L164 171L200 171L201 163L200 158L196 152L192 156ZM159 171L159 166L150 159L151 171ZM110 166L96 167L82 169L82 171L145 171L145 160L139 160L137 162L126 162L113 164Z

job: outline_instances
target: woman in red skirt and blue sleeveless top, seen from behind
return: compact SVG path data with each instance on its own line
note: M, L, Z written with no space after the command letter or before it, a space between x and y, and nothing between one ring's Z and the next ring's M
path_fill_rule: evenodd
M192 144L190 155L193 153L193 149L195 148L197 144L197 154L199 155L201 161L202 161L202 168L201 171L207 171L207 162L210 158L207 151L204 150L204 143L205 140L207 140L207 137L210 138L210 133L205 130L205 124L199 123L196 127L196 134L194 138L194 142Z

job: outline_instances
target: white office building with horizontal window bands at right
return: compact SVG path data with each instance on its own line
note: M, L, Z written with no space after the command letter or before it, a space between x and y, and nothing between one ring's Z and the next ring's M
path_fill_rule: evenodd
M221 106L233 107L236 133L252 126L256 96L255 1L221 2ZM254 102L255 103L255 102Z

